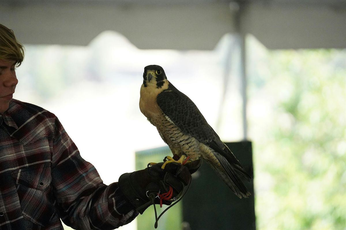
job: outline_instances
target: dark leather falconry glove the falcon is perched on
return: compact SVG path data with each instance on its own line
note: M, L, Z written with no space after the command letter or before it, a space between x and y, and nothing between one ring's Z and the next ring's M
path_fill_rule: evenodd
M155 204L162 202L170 205L179 199L181 192L191 181L191 174L197 171L201 163L201 159L184 165L172 162L164 169L161 168L163 162L157 163L143 170L122 174L119 177L119 187L131 204L143 214L152 204L150 196L155 197ZM170 199L160 199L158 194Z

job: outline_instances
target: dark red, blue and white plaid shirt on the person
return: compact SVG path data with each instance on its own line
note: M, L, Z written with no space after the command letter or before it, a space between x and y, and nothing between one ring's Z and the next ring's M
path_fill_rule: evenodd
M106 186L53 113L12 100L0 114L0 229L114 229L138 212Z

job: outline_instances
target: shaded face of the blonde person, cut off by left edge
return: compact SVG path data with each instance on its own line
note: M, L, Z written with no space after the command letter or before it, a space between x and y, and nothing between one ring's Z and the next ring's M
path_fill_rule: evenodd
M0 113L8 109L10 100L18 84L15 71L16 63L16 61L0 59Z

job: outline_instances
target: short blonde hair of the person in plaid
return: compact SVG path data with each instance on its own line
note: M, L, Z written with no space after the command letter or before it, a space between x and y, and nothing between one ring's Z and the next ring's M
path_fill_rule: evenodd
M20 66L24 60L24 46L18 42L13 30L0 24L0 59L16 61Z

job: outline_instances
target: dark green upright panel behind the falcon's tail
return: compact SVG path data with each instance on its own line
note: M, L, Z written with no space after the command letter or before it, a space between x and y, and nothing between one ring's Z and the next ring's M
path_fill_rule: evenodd
M251 142L230 142L226 145L253 177ZM184 230L256 229L253 181L243 182L252 195L239 199L203 162L198 172L193 174L191 187L182 200Z

